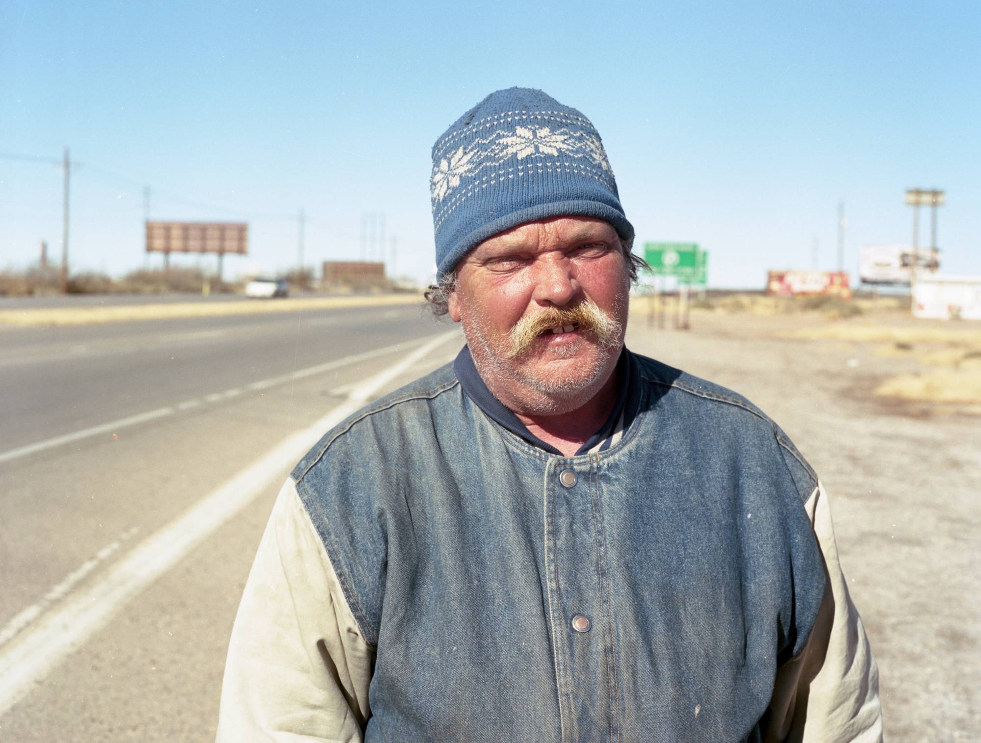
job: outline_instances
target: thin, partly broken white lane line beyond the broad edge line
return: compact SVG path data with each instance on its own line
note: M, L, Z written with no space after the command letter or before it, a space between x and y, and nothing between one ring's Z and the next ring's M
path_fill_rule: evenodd
M285 384L286 382L291 382L295 379L303 379L307 376L313 376L314 374L330 372L341 367L350 366L351 364L357 364L362 361L368 361L369 359L375 359L379 356L393 354L399 351L404 345L404 343L395 343L394 345L385 346L384 348L376 348L374 351L366 351L363 354L345 356L343 359L337 359L336 361L327 362L326 364L318 364L315 367L307 367L306 369L301 369L296 372L280 374L279 376L273 376L269 379L262 379L257 382L252 382L251 384L247 384L246 387L252 390L268 389L269 387L275 387L278 384ZM98 436L100 433L115 433L120 428L126 428L129 425L136 425L137 423L154 421L158 418L172 416L178 411L182 412L195 408L205 401L209 403L218 403L222 400L236 397L237 395L241 394L241 391L242 390L240 388L233 387L232 389L225 390L224 392L214 392L210 395L205 395L203 399L187 400L176 406L157 408L156 410L151 410L147 413L139 413L135 416L129 416L129 418L121 418L117 421L109 421L108 423L102 423L101 425L93 425L91 428L82 428L81 430L66 433L62 436L55 436L54 438L44 439L43 441L37 441L33 444L26 444L25 446L19 446L16 449L8 449L5 452L0 452L0 464L10 462L11 460L18 459L19 457L26 457L28 454L43 452L45 449L51 449L56 446L61 446L62 444L70 444L73 441L80 441L83 438Z

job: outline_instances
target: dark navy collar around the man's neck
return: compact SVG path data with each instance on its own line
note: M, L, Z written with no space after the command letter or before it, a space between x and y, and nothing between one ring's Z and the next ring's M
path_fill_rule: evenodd
M619 440L619 435L630 426L637 415L637 409L641 402L640 375L636 367L637 361L634 359L634 355L624 348L613 372L617 379L617 398L613 410L606 422L599 427L599 430L579 447L576 455L586 454L594 449L604 451L614 443L614 439ZM453 362L453 371L456 372L456 377L460 380L463 391L492 421L539 449L558 457L565 456L554 446L545 443L528 430L528 427L514 415L513 411L491 394L487 384L484 383L484 379L481 378L480 372L477 371L467 346L464 346L457 354L456 360Z

